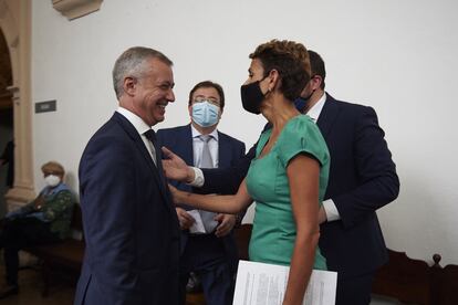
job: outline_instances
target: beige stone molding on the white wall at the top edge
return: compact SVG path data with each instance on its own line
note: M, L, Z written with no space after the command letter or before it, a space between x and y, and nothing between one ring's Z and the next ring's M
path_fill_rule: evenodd
M73 20L92 12L98 11L103 0L52 0L52 7Z

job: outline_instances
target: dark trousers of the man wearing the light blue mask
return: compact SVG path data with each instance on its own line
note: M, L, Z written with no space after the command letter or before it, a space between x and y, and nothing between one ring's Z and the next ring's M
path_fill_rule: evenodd
M207 305L231 305L237 262L229 261L225 244L215 234L189 235L180 256L180 304L185 304L186 284L192 271L200 278Z

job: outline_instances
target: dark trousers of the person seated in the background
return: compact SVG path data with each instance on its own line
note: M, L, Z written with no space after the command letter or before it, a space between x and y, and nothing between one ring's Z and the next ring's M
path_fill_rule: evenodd
M4 249L9 285L18 285L19 250L60 241L59 236L50 231L49 223L31 217L7 220L0 230L0 250Z

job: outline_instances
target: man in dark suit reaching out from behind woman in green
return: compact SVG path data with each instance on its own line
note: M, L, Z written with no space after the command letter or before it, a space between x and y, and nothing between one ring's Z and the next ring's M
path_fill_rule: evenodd
M375 111L326 94L324 62L318 53L309 54L312 78L296 106L316 122L331 155L320 210L320 249L327 267L339 273L336 304L367 305L373 276L387 261L376 210L397 198L399 180ZM254 148L227 170L183 169L173 155L165 164L170 176L194 181L205 191L231 192L246 176Z

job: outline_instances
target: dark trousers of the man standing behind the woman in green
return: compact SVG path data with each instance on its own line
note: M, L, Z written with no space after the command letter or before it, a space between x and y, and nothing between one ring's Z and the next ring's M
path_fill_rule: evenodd
M368 305L371 303L374 273L342 277L337 274L335 305Z

